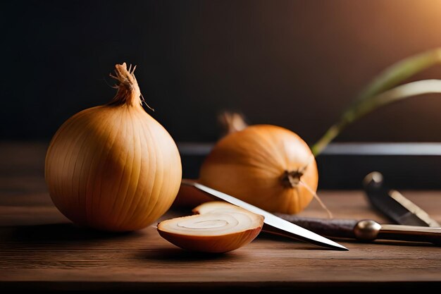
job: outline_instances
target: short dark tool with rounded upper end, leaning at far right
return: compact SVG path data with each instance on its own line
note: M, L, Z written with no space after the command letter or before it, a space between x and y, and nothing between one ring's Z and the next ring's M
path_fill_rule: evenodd
M401 225L440 227L423 209L397 190L385 187L383 182L383 175L378 171L369 173L363 180L364 190L373 207Z

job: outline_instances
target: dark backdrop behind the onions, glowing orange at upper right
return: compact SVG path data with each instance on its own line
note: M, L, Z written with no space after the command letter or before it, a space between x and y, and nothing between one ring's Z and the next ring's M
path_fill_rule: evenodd
M383 68L441 46L441 1L2 1L0 27L1 140L49 140L113 97L108 73L126 61L177 141L216 140L233 110L312 144ZM440 142L440 98L387 106L336 141Z

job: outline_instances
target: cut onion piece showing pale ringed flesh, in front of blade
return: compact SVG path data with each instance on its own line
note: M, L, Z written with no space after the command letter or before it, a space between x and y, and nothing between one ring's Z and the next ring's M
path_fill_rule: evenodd
M182 216L158 223L159 234L185 250L223 253L250 243L261 232L263 216L225 202L206 202Z

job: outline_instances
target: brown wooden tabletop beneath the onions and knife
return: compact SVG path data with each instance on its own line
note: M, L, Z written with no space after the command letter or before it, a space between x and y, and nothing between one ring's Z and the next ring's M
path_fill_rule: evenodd
M423 243L336 240L325 250L261 233L223 255L186 252L154 226L101 233L73 226L44 183L45 144L0 144L0 289L124 291L397 290L441 284L441 247ZM441 191L402 191L441 221ZM319 190L336 218L373 218L359 190ZM170 209L166 219L186 212ZM303 216L326 217L312 202ZM434 285L433 285L434 286Z

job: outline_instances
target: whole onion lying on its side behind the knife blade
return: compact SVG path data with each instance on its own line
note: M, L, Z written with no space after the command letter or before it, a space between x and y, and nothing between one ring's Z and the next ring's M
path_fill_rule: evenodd
M285 172L298 177L287 181ZM283 179L283 180L282 180ZM276 125L250 125L219 140L204 160L199 183L268 212L297 214L316 191L318 170L299 135Z

